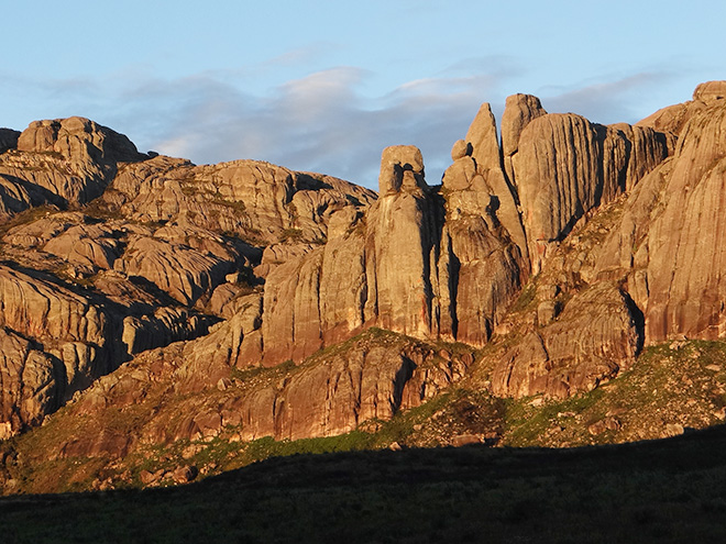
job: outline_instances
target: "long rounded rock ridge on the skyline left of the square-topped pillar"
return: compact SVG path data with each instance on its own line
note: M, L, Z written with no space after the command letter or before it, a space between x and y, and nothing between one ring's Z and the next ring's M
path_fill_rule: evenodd
M348 181L270 163L194 166L163 156L127 167L112 188L118 192L105 197L107 204L136 221L194 225L265 245L324 241L331 213L375 200Z

